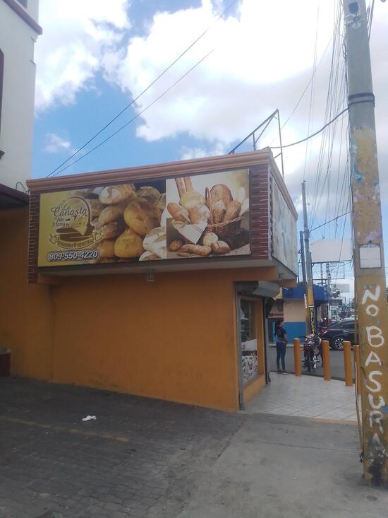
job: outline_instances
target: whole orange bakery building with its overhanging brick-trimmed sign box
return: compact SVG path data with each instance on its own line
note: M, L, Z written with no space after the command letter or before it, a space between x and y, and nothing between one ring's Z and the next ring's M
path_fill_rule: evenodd
M14 374L226 410L260 390L266 300L296 279L296 211L270 152L28 187L29 287L49 325L10 340Z

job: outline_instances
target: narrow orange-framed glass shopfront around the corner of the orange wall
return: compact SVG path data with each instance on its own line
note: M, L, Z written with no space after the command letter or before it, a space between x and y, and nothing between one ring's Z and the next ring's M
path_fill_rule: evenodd
M265 386L265 317L262 298L238 297L240 407Z

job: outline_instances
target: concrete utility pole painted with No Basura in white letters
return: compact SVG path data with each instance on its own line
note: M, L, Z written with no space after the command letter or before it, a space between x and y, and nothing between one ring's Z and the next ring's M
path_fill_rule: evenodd
M388 310L365 0L344 0L364 478L388 488Z

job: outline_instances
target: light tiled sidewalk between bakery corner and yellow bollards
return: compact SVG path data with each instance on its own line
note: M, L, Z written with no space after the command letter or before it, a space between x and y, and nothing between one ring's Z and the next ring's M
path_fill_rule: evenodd
M332 379L272 372L272 382L245 405L244 413L270 413L356 423L354 386Z

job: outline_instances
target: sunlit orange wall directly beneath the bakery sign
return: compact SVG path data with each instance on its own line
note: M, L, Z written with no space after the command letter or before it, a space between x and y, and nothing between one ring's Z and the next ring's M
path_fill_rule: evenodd
M234 281L258 275L66 278L53 288L54 379L236 410Z

